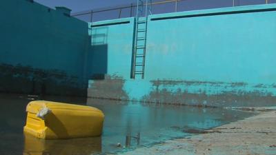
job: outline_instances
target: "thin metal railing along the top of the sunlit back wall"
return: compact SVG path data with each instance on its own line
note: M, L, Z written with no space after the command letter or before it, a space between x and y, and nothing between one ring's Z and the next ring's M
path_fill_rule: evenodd
M217 1L217 3L211 3L213 1L214 0L159 0L152 1L152 3L148 3L148 5L152 6L151 14L162 14L188 10L276 3L276 0L215 0ZM144 5L146 6L146 3ZM72 13L71 16L76 17L77 19L80 19L82 21L94 22L108 19L135 17L136 12L137 3L130 3L124 6L115 6L109 8L99 8L82 12L75 12Z

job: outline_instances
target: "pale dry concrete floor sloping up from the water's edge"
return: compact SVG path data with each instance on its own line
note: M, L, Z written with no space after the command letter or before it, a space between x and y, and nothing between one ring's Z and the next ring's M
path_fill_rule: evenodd
M205 134L139 147L122 154L276 154L275 107L246 110L254 110L257 115L216 127Z

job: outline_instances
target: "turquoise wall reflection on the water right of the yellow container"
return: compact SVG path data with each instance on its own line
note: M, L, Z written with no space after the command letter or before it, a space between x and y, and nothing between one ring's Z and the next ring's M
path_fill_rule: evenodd
M250 116L247 112L221 108L187 107L161 104L128 103L88 99L87 104L97 107L106 115L103 127L103 152L119 151L115 144L130 147L152 145L160 141L189 135L186 129L206 130L224 123ZM126 136L132 138L126 139Z

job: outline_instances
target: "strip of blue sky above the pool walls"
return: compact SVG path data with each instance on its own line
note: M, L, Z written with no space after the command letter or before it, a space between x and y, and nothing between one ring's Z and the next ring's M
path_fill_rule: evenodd
M34 0L44 6L55 8L55 6L65 6L72 10L71 14L81 14L83 12L90 13L90 10L99 10L101 8L109 8L116 6L129 5L130 3L137 3L137 0ZM149 1L149 0L148 0ZM166 1L166 0L152 0L152 1ZM168 0L167 0L168 1ZM276 3L276 0L268 0L270 3ZM235 0L235 6L264 4L266 0ZM178 2L177 11L200 10L209 8L224 8L232 7L233 0L183 0ZM134 11L135 12L135 11ZM166 3L152 6L153 14L161 14L167 12L175 12L175 3ZM135 14L135 13L133 13ZM133 15L132 14L132 15ZM130 17L130 9L112 10L108 12L97 12L91 14L84 14L74 16L83 21L102 21L106 19L117 19Z

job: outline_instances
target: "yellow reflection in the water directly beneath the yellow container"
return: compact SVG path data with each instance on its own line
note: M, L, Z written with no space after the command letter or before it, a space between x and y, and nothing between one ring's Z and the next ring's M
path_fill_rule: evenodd
M90 155L101 152L101 137L44 140L25 134L23 155Z

